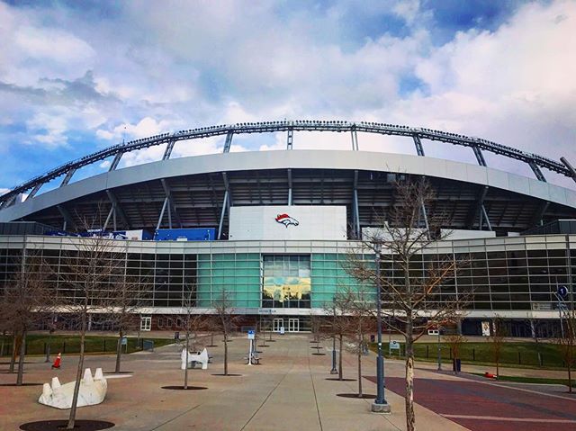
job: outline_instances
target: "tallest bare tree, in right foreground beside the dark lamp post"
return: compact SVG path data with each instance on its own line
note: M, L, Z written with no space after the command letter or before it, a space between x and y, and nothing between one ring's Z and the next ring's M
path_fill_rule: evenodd
M450 283L467 261L452 252L435 253L436 241L446 238L441 228L449 220L431 211L436 197L427 181L403 181L396 185L395 194L395 204L380 228L363 232L345 266L357 280L381 286L383 315L393 315L390 325L405 339L406 427L412 431L416 424L414 342L435 322L457 319L463 296L455 294ZM376 265L383 271L377 271Z

